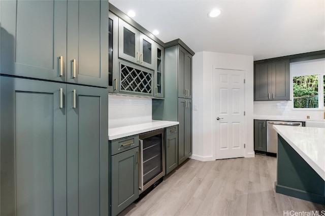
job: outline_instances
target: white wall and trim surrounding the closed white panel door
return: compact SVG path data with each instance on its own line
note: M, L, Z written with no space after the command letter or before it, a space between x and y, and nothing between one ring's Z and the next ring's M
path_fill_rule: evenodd
M245 157L254 157L253 151L253 56L199 52L193 56L193 152L191 158L202 161L215 159L213 144L213 68L245 71L246 149Z

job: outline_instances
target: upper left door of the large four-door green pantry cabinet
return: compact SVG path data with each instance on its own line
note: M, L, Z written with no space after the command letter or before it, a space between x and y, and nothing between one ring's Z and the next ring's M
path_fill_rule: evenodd
M66 81L67 3L1 1L1 15L1 73Z

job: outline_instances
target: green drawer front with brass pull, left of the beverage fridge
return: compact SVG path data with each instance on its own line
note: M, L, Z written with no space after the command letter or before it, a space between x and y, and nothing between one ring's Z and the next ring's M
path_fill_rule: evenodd
M133 149L139 146L139 135L123 137L110 141L111 155L121 153L123 151Z

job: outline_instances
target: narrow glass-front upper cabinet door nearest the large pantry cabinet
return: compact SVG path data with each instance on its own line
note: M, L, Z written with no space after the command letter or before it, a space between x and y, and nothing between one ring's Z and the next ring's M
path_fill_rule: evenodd
M117 93L118 82L118 17L109 13L108 15L108 91Z

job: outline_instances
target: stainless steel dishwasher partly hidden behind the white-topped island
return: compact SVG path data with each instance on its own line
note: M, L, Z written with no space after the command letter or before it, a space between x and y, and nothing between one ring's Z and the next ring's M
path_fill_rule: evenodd
M287 126L303 126L301 121L266 121L266 151L269 153L277 153L278 150L278 133L273 128L274 124Z

